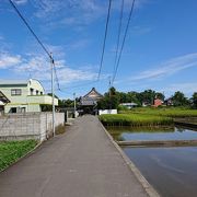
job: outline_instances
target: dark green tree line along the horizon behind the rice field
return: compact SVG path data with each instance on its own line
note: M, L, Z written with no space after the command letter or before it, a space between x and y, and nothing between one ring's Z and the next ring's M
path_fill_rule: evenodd
M97 108L118 108L121 103L136 103L137 106L142 106L143 104L151 106L154 103L155 99L160 99L167 104L165 95L161 92L154 90L144 90L143 92L119 92L114 86L104 93L103 99L97 102ZM173 106L188 106L197 108L197 92L193 94L192 97L186 97L185 94L181 91L175 92L169 100ZM77 106L80 102L80 97L77 97ZM59 105L63 107L73 107L72 100L61 100Z

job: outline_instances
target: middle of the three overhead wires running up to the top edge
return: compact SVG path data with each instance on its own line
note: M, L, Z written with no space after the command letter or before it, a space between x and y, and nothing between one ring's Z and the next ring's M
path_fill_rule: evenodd
M116 70L117 55L118 55L118 50L119 50L119 39L120 39L120 34L121 34L121 21L123 21L124 4L125 4L125 0L121 0L121 8L120 8L120 14L119 14L119 25L118 25L118 37L117 37L117 45L116 45L116 56L115 56L115 61L114 61L113 73L115 73L115 70Z

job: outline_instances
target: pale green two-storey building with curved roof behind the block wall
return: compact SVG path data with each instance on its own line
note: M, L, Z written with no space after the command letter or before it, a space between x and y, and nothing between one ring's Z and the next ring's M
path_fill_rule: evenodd
M45 94L39 81L33 79L1 80L0 91L10 101L4 106L4 113L42 112L53 103L51 96ZM58 105L57 99L55 99L55 105Z

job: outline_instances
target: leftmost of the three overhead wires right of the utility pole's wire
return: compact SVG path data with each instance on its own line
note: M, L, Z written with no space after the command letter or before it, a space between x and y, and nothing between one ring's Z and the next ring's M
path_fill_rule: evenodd
M97 74L97 81L100 80L101 70L103 67L103 58L104 58L104 53L105 53L106 36L107 36L107 32L108 32L108 21L109 21L109 16L111 16L111 5L112 5L112 0L108 1L108 12L107 12L107 20L106 20L106 25L105 25L105 35L104 35L104 40L103 40L103 49L102 49L102 57L101 57L101 63L100 63L100 71Z

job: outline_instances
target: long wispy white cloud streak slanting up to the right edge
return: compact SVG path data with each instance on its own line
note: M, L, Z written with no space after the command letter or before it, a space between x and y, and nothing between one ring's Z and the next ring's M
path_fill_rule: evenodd
M197 53L181 56L169 61L162 62L155 69L142 71L134 77L132 80L158 80L169 76L172 76L178 71L188 69L190 67L197 67Z

